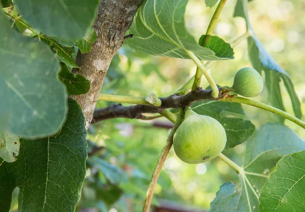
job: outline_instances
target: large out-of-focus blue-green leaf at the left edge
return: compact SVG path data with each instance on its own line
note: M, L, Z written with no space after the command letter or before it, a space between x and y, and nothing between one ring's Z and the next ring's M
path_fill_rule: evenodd
M0 25L0 111L10 110L0 128L7 125L11 133L28 138L55 133L67 112L56 57L46 45L12 31L3 14Z

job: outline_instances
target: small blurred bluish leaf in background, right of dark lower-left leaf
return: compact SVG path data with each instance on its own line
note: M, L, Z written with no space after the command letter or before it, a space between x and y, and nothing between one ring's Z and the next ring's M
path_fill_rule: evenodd
M121 170L98 157L88 158L88 163L100 169L111 184L118 184L122 178Z

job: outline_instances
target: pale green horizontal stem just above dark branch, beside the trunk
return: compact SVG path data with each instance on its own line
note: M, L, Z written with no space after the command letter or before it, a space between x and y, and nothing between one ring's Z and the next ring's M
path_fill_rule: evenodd
M109 102L123 102L138 105L152 105L145 100L145 97L120 96L113 94L100 94L98 100Z

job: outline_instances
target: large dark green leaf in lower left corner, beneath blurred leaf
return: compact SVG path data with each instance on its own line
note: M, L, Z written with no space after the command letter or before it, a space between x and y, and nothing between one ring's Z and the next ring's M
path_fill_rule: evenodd
M84 121L81 108L69 99L67 121L58 135L20 140L18 160L0 166L0 211L9 211L16 187L19 212L75 210L86 174Z

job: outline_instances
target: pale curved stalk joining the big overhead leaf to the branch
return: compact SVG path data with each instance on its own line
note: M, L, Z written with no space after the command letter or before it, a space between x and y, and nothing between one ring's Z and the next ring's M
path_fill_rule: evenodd
M204 67L203 63L200 61L200 59L189 50L186 50L186 53L189 55L189 57L194 61L194 63L197 65L198 69L201 70L202 74L205 76L206 80L210 84L212 88L212 97L218 98L219 90L217 87L217 84L215 83L214 79L211 77L211 75L207 72L206 68Z

